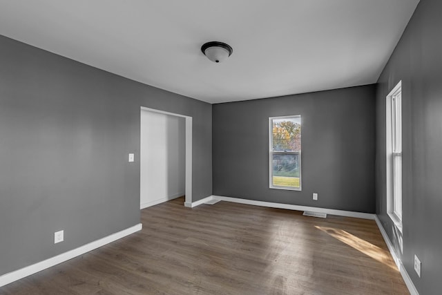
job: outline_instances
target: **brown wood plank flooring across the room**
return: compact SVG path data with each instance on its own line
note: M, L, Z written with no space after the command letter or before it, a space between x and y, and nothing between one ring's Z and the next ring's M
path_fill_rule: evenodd
M0 294L409 294L374 220L184 198Z

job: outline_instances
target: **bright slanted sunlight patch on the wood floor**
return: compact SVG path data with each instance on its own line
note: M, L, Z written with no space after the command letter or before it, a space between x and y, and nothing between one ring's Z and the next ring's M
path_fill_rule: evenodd
M332 227L319 227L317 225L315 225L315 227L398 272L398 269L394 264L392 258L390 257L390 253L388 251L385 251L384 249L373 245L366 240L358 238L357 236L349 234L347 231L344 231L342 229L334 229Z

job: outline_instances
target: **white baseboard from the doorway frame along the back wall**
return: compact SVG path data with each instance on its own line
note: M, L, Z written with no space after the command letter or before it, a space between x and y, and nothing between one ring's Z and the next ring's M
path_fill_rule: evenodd
M271 207L271 208L279 208L279 209L289 209L289 210L296 210L296 211L314 211L314 212L327 213L327 214L332 214L332 215L337 215L337 216L363 218L363 219L370 219L370 220L374 220L374 217L375 217L375 214L372 214L372 213L353 212L353 211L344 211L344 210L318 208L318 207L307 207L307 206L300 206L300 205L293 205L293 204L262 202L262 201L256 201L256 200L247 200L247 199L231 198L231 197L224 197L224 196L209 196L207 198L199 200L198 202L191 203L191 206L187 206L187 204L186 204L186 207L195 207L195 206L198 206L199 204L203 204L204 202L209 202L211 200L236 202L236 203L240 203L240 204L249 204L249 205L261 206L261 207Z

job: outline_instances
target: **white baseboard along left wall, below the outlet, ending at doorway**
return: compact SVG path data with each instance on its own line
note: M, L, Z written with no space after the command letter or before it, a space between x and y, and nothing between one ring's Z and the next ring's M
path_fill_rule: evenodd
M110 236L100 238L99 240L95 240L76 249L67 251L63 254L59 254L57 256L40 261L39 263L23 267L22 269L17 269L14 272L3 274L2 276L0 276L0 287L8 285L9 283L15 282L16 280L19 280L21 278L25 278L26 276L30 276L31 274L41 272L44 269L47 269L59 263L63 263L66 260L70 260L72 258L85 254L88 251L92 251L93 249L102 247L120 238L124 238L125 236L133 234L136 231L140 231L141 229L142 229L142 224L139 223L137 225L134 225L133 227L129 227L128 229L123 229L122 231L118 231L115 234L111 234Z

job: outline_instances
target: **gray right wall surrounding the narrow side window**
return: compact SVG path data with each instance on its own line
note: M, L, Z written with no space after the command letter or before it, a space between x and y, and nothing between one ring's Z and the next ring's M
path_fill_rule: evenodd
M439 294L442 274L442 1L421 0L378 80L376 213L397 245L386 213L385 97L402 80L403 254L420 294ZM414 272L419 256L421 278Z

